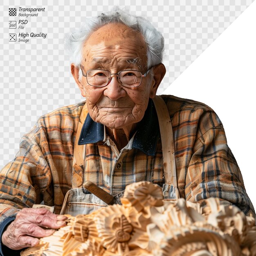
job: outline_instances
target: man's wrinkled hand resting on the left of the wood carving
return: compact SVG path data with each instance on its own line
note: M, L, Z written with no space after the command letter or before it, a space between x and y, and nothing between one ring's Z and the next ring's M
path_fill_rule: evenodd
M38 238L50 236L54 229L65 226L66 219L45 208L24 208L2 234L2 244L13 250L35 246Z

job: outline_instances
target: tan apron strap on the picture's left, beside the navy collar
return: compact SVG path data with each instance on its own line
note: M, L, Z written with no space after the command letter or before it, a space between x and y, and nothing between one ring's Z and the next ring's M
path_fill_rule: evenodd
M85 145L78 145L78 141L87 114L88 109L87 104L85 102L81 115L79 117L79 123L76 130L72 171L72 189L81 188L83 184Z

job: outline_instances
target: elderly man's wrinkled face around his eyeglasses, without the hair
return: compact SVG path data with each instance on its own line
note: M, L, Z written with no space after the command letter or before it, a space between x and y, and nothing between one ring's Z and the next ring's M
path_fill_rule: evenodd
M147 47L142 35L121 24L108 24L88 38L83 46L81 66L86 73L92 69L139 70L144 74L147 63ZM139 122L148 106L148 99L155 97L158 87L150 74L135 88L123 87L116 75L101 88L91 86L86 77L78 81L79 69L73 65L72 74L86 97L88 112L96 122L108 128L126 128ZM162 79L161 79L162 80Z

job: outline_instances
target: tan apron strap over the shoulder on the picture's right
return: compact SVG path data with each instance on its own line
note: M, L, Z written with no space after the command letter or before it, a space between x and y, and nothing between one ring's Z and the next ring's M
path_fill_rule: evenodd
M167 106L160 96L153 99L159 122L164 166L164 182L177 188L175 148L173 141L173 129Z

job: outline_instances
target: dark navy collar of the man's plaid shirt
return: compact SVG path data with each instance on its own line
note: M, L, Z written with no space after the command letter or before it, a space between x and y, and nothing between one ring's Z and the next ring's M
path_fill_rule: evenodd
M104 125L94 122L88 114L81 130L78 145L104 141L104 135L106 135ZM146 155L154 156L159 135L157 113L153 100L149 99L144 117L139 122L137 132L132 137L132 148L139 149Z

